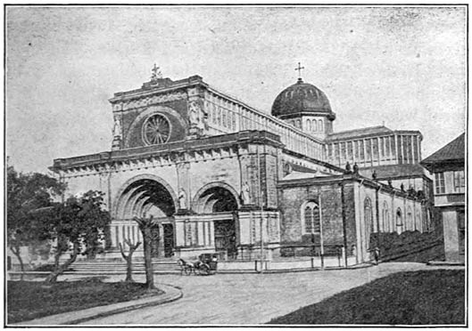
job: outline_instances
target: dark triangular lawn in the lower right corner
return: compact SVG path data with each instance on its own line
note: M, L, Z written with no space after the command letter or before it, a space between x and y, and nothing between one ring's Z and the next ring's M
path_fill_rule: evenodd
M464 270L399 272L269 324L465 324Z

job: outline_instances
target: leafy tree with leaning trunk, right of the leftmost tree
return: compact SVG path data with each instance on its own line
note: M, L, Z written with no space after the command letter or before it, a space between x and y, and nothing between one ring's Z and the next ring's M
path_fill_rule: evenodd
M41 232L54 240L54 270L46 282L54 282L57 277L75 262L79 254L96 252L104 239L104 229L111 221L108 211L103 209L104 193L89 190L82 197L70 197L62 204L41 213ZM71 246L67 261L60 264L62 254Z

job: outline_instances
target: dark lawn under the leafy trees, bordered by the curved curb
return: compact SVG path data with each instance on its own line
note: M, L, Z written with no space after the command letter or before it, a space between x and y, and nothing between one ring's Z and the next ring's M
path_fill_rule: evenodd
M122 303L143 295L148 294L141 283L103 283L89 279L57 282L50 287L38 281L8 281L8 323Z

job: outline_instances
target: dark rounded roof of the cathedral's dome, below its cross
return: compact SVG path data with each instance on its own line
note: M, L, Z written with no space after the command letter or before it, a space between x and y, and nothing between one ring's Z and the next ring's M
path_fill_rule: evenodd
M335 118L335 113L331 110L326 94L315 85L303 83L302 78L298 78L294 85L288 86L277 95L272 104L271 113L276 117L316 113L318 115L327 114L328 118L332 117L330 119Z

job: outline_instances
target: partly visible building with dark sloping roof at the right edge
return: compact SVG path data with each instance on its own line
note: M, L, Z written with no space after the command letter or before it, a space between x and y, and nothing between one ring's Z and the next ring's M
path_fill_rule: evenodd
M421 164L435 176L435 207L441 215L446 261L464 262L465 234L465 133Z

